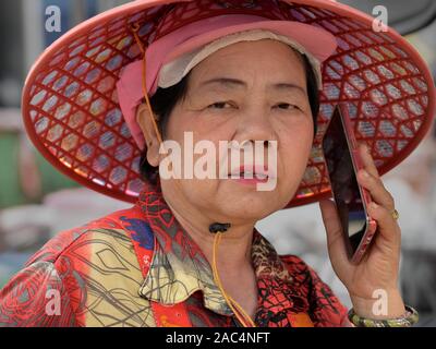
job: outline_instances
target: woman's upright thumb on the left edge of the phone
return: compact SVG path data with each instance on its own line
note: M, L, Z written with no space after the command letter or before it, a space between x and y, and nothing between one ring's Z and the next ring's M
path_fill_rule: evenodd
M342 226L339 219L336 204L331 200L319 201L319 209L327 232L328 253L334 260L347 260L347 251L342 237Z

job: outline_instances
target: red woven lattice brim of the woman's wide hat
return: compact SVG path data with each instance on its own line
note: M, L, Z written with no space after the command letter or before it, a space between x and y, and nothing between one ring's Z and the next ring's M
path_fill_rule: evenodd
M324 91L312 157L289 206L329 193L320 140L334 107L347 101L358 141L372 149L382 172L416 146L428 123L429 82L420 63L388 33L328 10L283 1L203 0L159 5L89 26L88 33L57 44L37 67L23 105L36 146L59 169L111 196L133 201L143 188L136 147L118 106L116 82L128 63L141 58L130 24L152 43L190 22L223 13L251 13L320 26L338 38L325 62Z

